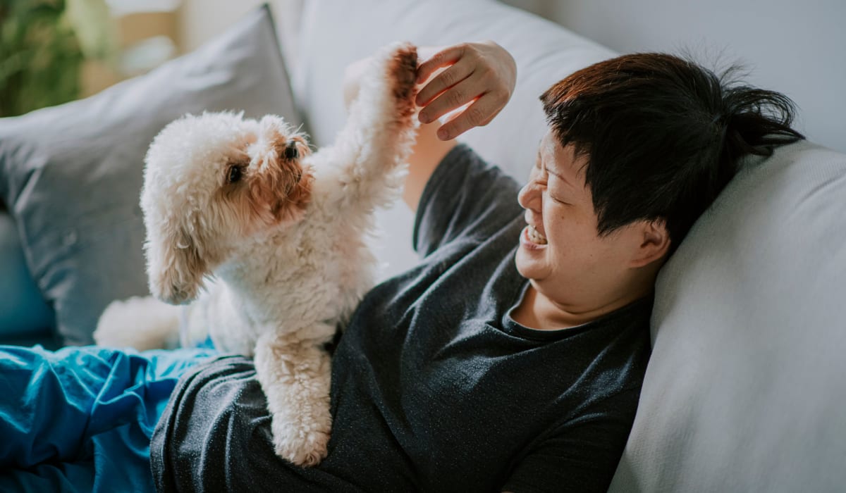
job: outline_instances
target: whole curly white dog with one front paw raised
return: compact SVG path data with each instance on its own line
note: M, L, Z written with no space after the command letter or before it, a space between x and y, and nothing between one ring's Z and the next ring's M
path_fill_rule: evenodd
M146 155L151 293L184 304L213 275L188 309L190 331L207 329L224 352L255 355L276 452L296 464L327 454L324 345L373 283L365 234L375 207L397 196L414 143L416 65L410 45L380 52L335 144L313 154L282 118L205 113L168 124ZM178 331L178 308L113 303L95 339L161 346Z

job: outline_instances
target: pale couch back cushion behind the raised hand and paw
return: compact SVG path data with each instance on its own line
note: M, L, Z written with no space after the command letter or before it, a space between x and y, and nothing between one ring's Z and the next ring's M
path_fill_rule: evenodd
M366 26L366 28L362 28ZM327 33L338 42L327 42ZM517 63L517 86L508 106L491 123L462 135L488 162L522 182L535 164L547 131L538 97L550 85L615 53L546 19L491 0L308 0L299 37L299 63L291 76L299 107L317 145L327 145L345 115L341 80L354 60L371 56L391 41L421 47L493 40ZM382 239L371 242L385 262L382 278L414 266L409 243L414 222L402 203L380 211ZM389 245L386 247L385 245Z

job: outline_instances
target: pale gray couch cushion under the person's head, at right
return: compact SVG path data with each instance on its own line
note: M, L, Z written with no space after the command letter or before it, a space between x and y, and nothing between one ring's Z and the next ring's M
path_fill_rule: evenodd
M842 491L846 155L749 162L661 272L613 492Z

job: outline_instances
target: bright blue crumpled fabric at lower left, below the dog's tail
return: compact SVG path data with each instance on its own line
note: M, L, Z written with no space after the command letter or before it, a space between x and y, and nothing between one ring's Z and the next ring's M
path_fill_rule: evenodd
M0 491L150 491L149 444L212 351L0 347Z

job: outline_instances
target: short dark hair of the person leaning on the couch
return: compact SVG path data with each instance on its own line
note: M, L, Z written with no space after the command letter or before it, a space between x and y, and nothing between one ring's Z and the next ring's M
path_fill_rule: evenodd
M804 137L793 101L664 53L583 68L541 101L553 135L586 156L598 233L663 219L671 252L736 173L739 158L768 156Z

